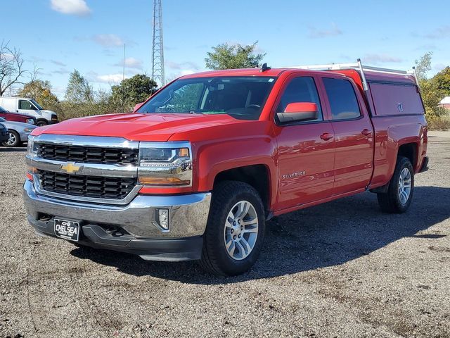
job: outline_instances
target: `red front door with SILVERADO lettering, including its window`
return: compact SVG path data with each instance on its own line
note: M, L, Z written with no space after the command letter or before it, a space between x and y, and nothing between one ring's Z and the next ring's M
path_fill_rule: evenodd
M276 112L283 112L293 102L312 102L319 108L319 118L308 122L281 124L275 114L278 209L317 201L332 194L334 133L323 111L324 102L319 98L316 82L315 76L288 78L276 104Z

